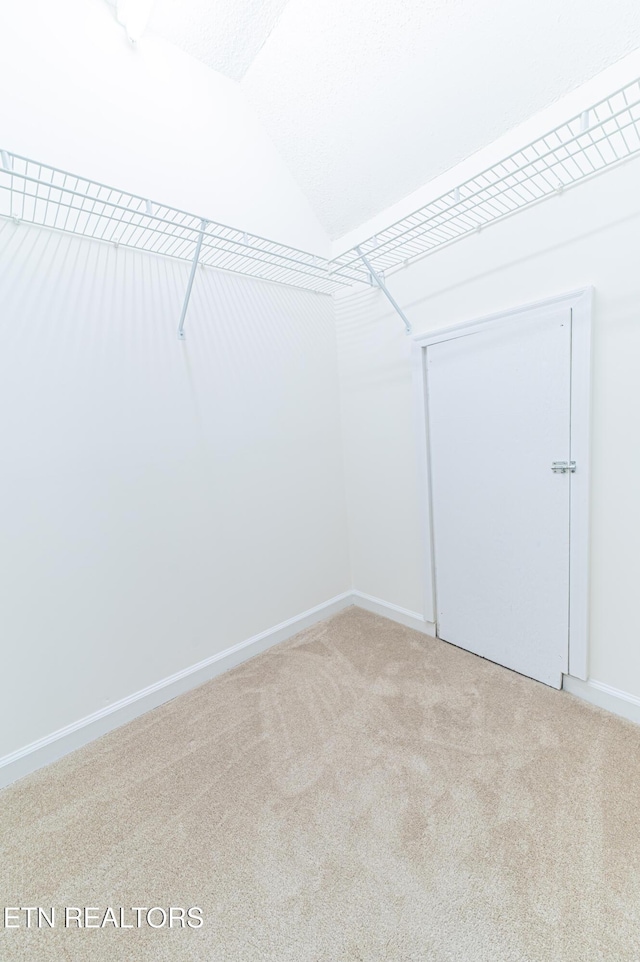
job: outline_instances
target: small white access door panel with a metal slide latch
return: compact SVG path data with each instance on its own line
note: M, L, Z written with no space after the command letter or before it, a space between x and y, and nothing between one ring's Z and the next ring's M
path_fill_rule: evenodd
M429 345L438 635L559 688L569 639L571 311Z

